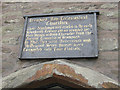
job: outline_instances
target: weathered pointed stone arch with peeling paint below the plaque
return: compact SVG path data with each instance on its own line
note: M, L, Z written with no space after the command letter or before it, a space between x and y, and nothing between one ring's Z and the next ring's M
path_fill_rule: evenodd
M39 88L60 84L71 88L118 88L118 82L91 69L54 60L33 65L3 78L2 88Z

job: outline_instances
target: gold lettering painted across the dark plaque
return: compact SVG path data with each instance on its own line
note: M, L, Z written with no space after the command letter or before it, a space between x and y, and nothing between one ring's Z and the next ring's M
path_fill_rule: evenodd
M27 28L25 47L23 51L71 51L81 50L88 43L91 43L92 24L70 24L75 20L87 20L88 15L59 16L30 18L28 23L44 23L44 26L30 26ZM81 38L82 36L85 36ZM88 36L88 37L87 37Z

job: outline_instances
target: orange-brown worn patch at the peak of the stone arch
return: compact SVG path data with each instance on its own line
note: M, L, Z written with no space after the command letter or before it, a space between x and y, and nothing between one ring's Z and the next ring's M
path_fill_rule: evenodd
M88 80L85 79L82 75L76 74L74 69L67 65L61 65L61 64L44 64L43 67L36 71L35 75L33 75L31 78L27 79L27 82L32 82L36 80L40 80L40 78L43 78L47 75L52 75L54 77L54 74L58 74L60 76L69 77L74 80L79 81L83 85L88 85Z

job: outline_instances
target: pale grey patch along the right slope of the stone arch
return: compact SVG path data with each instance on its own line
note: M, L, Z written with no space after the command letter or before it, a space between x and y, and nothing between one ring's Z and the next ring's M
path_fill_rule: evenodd
M101 88L99 87L99 84L102 84L104 81L108 82L111 81L112 83L115 83L116 85L118 85L118 83L115 80L112 80L111 78L97 72L97 71L93 71L89 68L85 68L85 67L80 67L71 63L67 63L65 62L65 60L56 60L55 61L58 64L61 65L67 65L70 66L71 68L73 68L75 70L76 74L81 74L83 77L85 77L88 80L88 84L90 86L93 86L95 88Z

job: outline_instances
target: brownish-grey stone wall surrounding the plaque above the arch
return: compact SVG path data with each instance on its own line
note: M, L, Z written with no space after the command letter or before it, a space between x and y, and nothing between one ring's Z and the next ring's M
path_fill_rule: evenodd
M24 26L23 15L99 10L98 59L70 59L118 80L118 3L80 2L3 2L2 3L2 74L3 77L28 66L49 60L18 59Z

